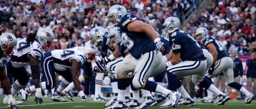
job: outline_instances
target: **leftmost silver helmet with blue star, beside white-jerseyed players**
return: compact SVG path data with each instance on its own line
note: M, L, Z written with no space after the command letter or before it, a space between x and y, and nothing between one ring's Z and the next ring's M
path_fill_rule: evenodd
M101 41L102 36L106 33L106 30L103 27L94 27L90 31L89 39L90 43L98 47L98 43Z

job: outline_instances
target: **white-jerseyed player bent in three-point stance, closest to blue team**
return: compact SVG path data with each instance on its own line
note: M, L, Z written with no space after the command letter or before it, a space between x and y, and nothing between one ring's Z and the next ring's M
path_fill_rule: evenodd
M88 44L84 47L73 47L65 50L53 50L45 53L45 57L40 62L43 77L46 82L41 82L41 89L52 89L55 87L55 72L60 74L63 79L53 94L51 100L66 101L61 98L61 92L72 82L78 90L83 102L87 102L87 98L81 89L79 82L79 70L84 64L90 64L96 60L95 56L98 52L94 45ZM71 71L70 71L71 70ZM41 90L40 89L40 90ZM24 89L26 95L30 92L36 91L35 86L30 86ZM24 92L23 91L23 92ZM42 100L39 100L42 102Z

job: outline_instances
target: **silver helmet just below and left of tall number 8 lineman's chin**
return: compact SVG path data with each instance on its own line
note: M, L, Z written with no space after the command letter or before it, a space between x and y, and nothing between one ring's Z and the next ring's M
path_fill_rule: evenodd
M122 41L119 27L113 27L108 30L107 44L109 47L114 49Z

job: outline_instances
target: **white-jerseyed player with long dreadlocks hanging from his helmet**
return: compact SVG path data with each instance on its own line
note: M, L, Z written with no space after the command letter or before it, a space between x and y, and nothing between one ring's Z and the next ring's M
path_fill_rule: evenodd
M29 82L29 76L25 66L30 65L34 84L40 82L40 61L44 57L43 52L52 50L54 34L51 30L42 28L29 33L26 38L17 42L17 49L11 57L11 62L6 65L7 73L11 73L17 80L12 85L12 95L16 95ZM41 89L36 85L38 92L35 99L41 99ZM40 94L39 94L40 93ZM21 97L26 101L26 98ZM20 101L21 102L21 101ZM3 103L7 103L6 97ZM22 102L21 102L22 103Z

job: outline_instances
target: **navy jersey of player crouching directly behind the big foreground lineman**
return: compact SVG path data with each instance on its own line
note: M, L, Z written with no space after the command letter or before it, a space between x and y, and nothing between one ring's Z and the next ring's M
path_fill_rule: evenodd
M174 54L180 53L181 61L203 61L203 50L195 39L182 30L172 33L169 39Z

